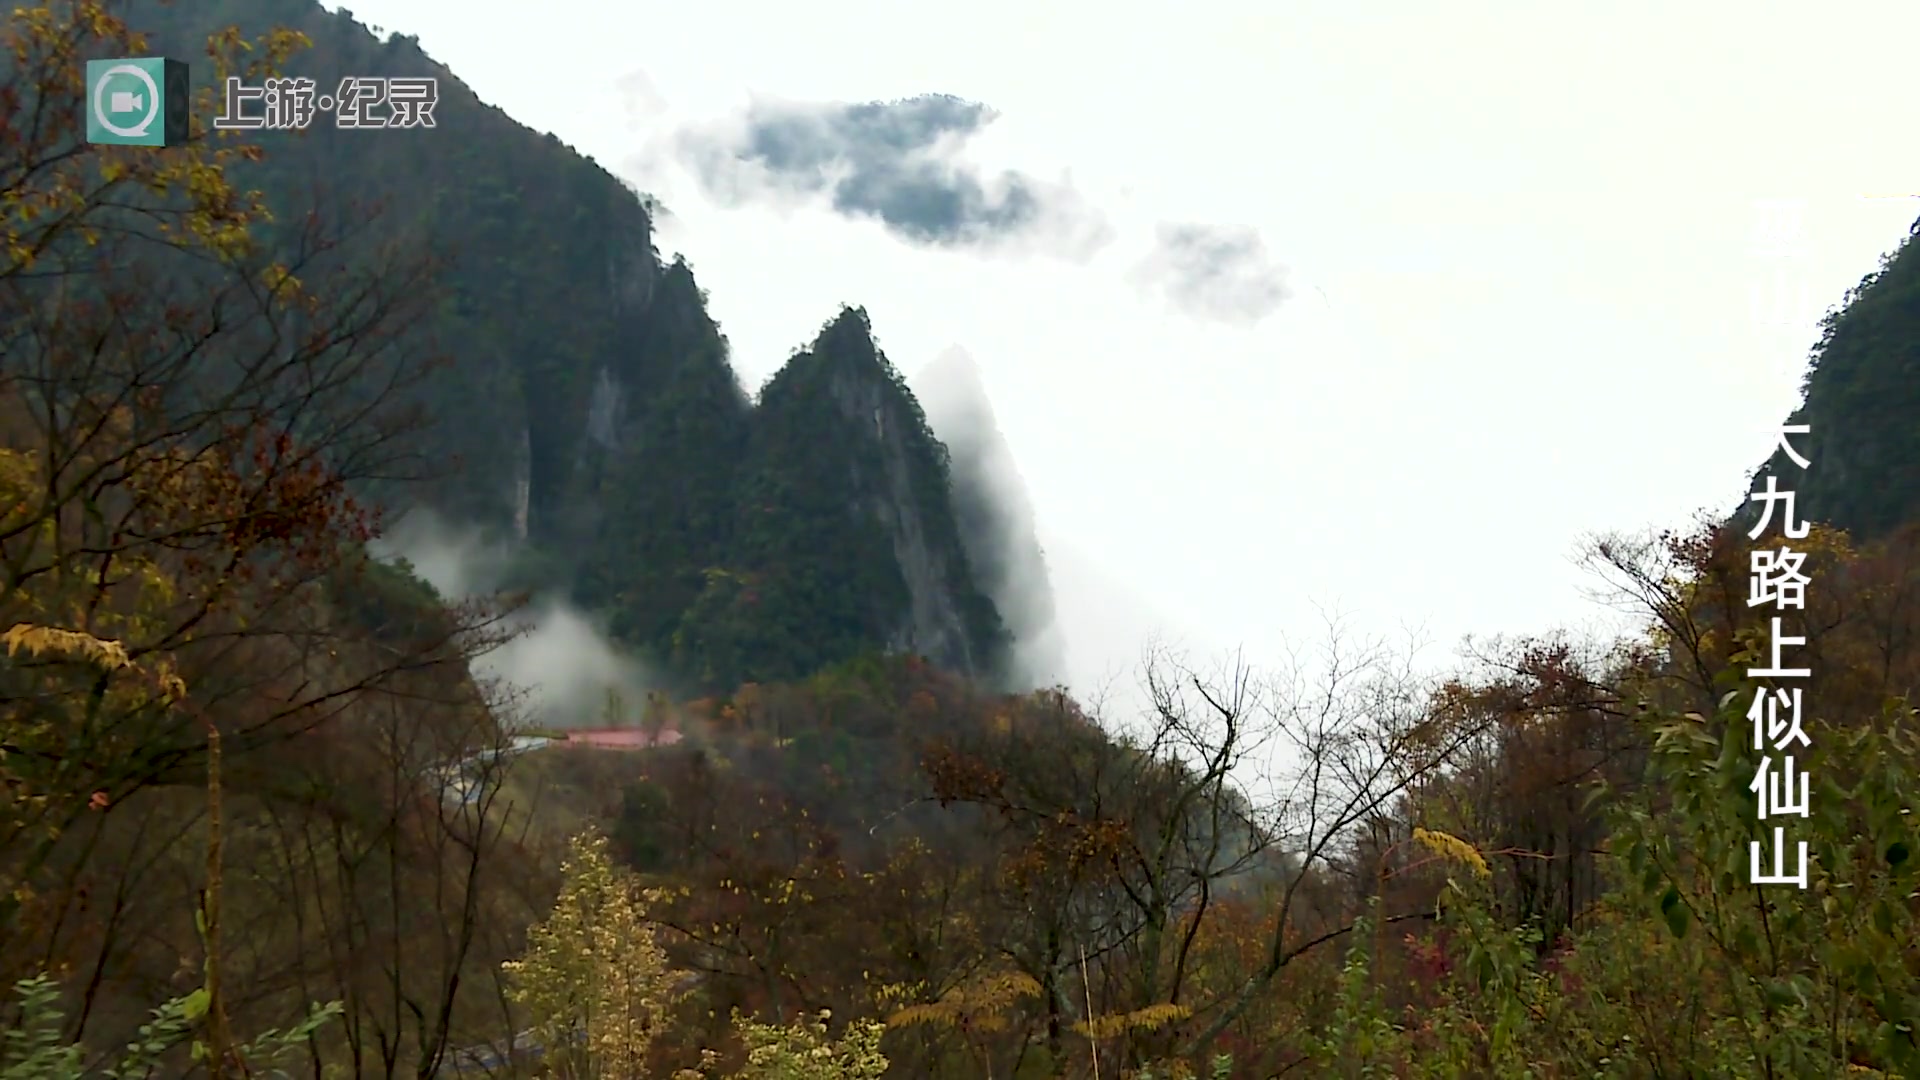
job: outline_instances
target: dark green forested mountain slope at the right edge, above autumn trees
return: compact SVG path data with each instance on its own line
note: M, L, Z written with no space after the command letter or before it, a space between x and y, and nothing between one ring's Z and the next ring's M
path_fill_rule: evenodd
M1820 340L1789 425L1809 425L1795 450L1776 450L1755 488L1776 477L1795 513L1878 540L1920 523L1920 221L1880 267L1820 321ZM1812 446L1814 450L1809 450ZM1736 517L1753 525L1757 507Z

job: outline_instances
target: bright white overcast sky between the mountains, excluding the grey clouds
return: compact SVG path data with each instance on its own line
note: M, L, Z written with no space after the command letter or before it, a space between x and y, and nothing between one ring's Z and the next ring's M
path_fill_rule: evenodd
M1920 215L1862 198L1920 192L1910 0L349 6L657 192L749 388L843 302L910 377L972 354L1077 686L1156 626L1275 655L1315 603L1438 659L1594 619L1580 536L1730 505L1820 313ZM1112 242L914 246L720 206L666 150L756 98L927 92L996 110L956 152L1069 184ZM1799 208L1789 259L1757 200ZM1175 309L1133 273L1164 223L1258 229L1292 298Z

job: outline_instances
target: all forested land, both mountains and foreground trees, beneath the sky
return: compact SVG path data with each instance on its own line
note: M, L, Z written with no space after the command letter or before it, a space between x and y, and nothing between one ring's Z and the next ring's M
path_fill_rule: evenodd
M309 0L0 33L0 1078L1920 1076L1912 242L1759 471L1805 536L1584 552L1644 632L1160 651L1096 715L1010 667L1023 509L883 311L747 394L645 196ZM436 75L461 138L86 146L148 52ZM511 580L378 557L422 507ZM541 590L678 742L526 738L478 661ZM1807 888L1751 871L1788 686Z

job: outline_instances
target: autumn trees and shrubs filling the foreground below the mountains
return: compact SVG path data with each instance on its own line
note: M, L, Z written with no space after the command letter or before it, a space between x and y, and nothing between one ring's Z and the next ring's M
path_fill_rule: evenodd
M1747 884L1770 542L1711 523L1590 552L1644 640L1446 680L1334 626L1127 721L866 657L488 755L503 605L357 502L432 267L263 242L205 133L75 152L106 6L6 35L0 1076L1920 1074L1914 530L1799 544L1805 892Z

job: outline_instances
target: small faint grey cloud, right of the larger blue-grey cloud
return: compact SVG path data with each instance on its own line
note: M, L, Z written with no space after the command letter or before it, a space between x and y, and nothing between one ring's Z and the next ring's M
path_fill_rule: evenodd
M1236 325L1273 315L1292 296L1286 267L1244 225L1162 225L1133 281L1188 315Z

